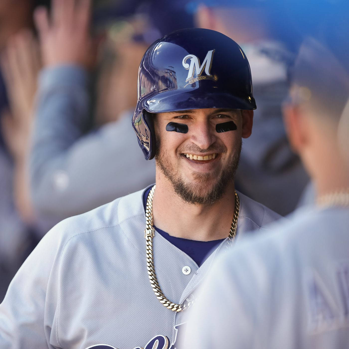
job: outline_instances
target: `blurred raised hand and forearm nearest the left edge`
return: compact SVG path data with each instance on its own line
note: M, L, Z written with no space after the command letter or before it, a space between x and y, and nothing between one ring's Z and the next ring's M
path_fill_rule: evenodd
M27 157L41 62L38 42L30 31L24 30L9 38L0 64L9 99L9 109L1 111L1 129L14 160L14 201L22 219L31 223L35 218L29 194Z

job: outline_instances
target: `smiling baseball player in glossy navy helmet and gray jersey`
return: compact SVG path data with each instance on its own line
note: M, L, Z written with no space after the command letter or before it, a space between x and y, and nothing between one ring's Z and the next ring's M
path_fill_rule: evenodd
M0 305L0 347L178 347L211 262L280 217L234 189L255 108L230 38L184 29L152 44L132 126L156 185L46 234Z

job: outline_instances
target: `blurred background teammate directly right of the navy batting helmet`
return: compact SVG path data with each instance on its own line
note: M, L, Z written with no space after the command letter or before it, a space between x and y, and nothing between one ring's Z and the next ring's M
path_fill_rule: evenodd
M199 1L200 2L200 1ZM197 25L236 40L246 53L253 77L253 133L244 140L237 188L281 215L293 211L309 181L285 133L281 104L287 97L287 70L294 59L288 28L276 1L201 1ZM206 5L205 5L206 4ZM294 36L294 33L292 32Z

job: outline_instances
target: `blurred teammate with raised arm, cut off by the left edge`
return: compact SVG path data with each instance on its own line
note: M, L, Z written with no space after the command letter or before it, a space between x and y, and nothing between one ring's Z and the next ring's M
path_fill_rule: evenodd
M32 12L47 2L0 3L0 301L17 269L49 229L33 213L26 166L40 65Z

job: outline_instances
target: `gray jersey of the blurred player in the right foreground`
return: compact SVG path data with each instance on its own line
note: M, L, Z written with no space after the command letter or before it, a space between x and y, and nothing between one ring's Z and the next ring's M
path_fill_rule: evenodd
M349 348L349 208L298 210L211 269L185 348Z

